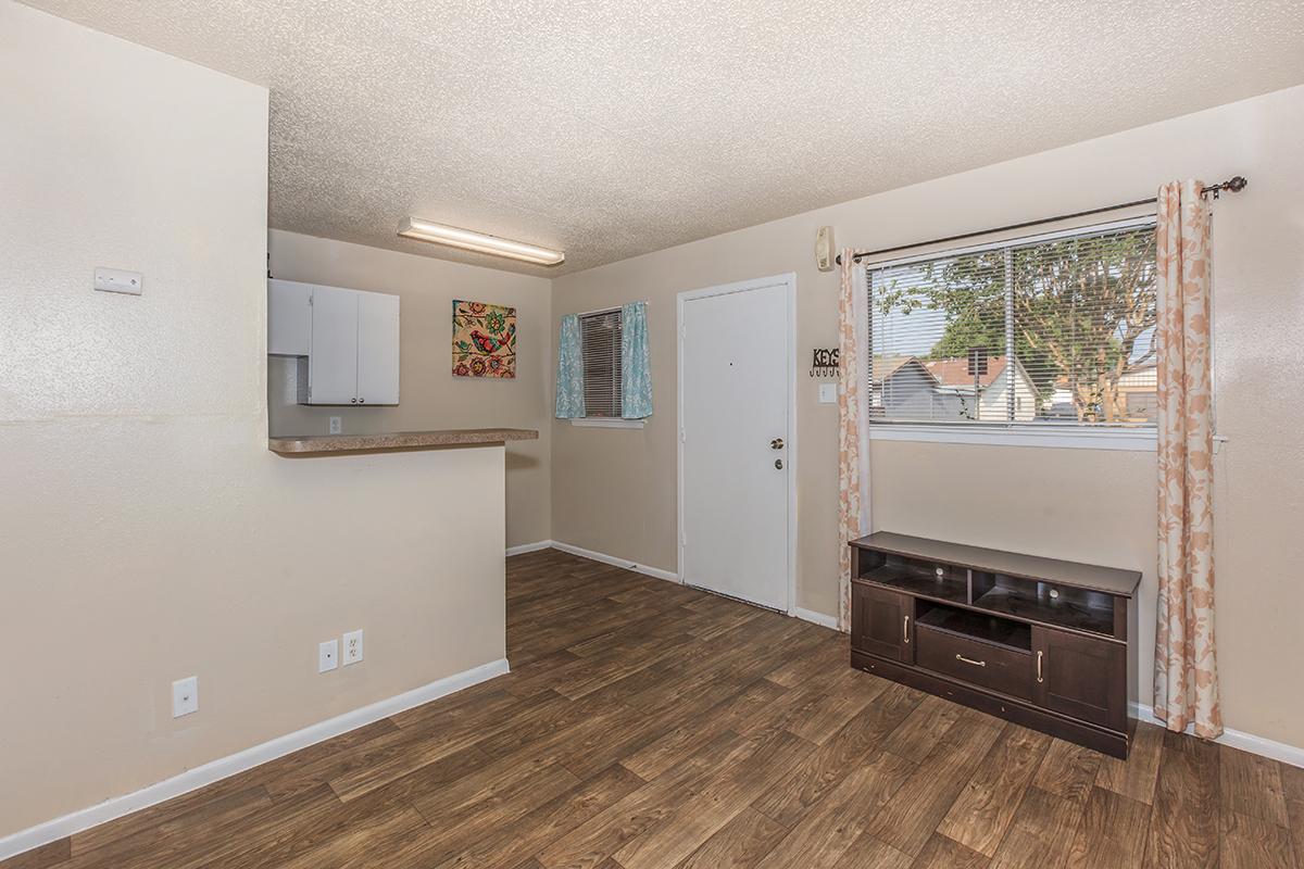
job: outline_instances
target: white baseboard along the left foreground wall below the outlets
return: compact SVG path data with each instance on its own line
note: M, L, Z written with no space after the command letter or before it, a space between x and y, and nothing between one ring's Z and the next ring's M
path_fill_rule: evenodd
M124 814L130 814L132 812L158 805L159 803L171 800L172 797L189 793L190 791L198 790L206 784L213 784L214 782L235 775L236 773L253 769L259 763L266 763L267 761L276 760L278 757L283 757L291 752L297 752L301 748L321 743L333 736L339 736L340 734L346 734L351 730L357 730L364 724L370 724L372 722L378 722L382 718L389 718L390 715L395 715L404 709L412 709L413 706L420 706L421 704L430 702L432 700L438 700L439 697L462 691L463 688L469 688L471 685L476 685L481 681L488 681L489 679L501 676L507 671L507 659L499 658L498 661L492 661L486 664L473 667L472 670L432 681L429 685L413 688L412 691L395 697L377 701L369 706L363 706L361 709L355 709L351 713L344 713L343 715L336 715L335 718L309 724L308 727L295 731L293 734L278 736L276 739L262 743L261 745L246 748L243 752L236 752L235 754L210 761L202 766L196 766L192 770L173 775L170 779L158 782L156 784L150 784L149 787L141 788L133 793L115 796L98 805L70 812L69 814L55 818L53 821L46 821L44 823L38 823L34 827L20 830L18 833L0 838L0 860L8 860L9 857L20 855L23 851L39 848L43 844L63 839L64 836L74 833L81 833L82 830L89 830L90 827L104 823L106 821L112 821L113 818L120 818Z

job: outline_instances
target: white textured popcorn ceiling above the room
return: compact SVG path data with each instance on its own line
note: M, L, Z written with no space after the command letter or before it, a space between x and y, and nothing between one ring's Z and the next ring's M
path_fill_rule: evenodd
M267 85L273 227L541 275L1304 82L1297 0L29 1Z

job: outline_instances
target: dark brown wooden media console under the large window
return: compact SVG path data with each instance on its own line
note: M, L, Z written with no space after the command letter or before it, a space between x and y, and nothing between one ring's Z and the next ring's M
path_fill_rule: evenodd
M853 667L1128 756L1138 571L891 532L850 546Z

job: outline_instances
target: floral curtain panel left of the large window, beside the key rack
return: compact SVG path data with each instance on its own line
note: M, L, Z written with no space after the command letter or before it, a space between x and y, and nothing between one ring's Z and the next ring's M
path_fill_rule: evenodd
M852 629L850 541L870 533L870 451L866 373L862 353L870 353L868 291L855 279L854 251L842 251L842 284L837 300L837 515L838 515L838 631ZM863 272L862 272L863 274Z

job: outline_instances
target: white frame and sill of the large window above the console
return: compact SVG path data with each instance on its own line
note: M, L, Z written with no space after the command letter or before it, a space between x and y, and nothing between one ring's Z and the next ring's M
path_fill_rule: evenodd
M1114 229L1131 229L1137 227L1153 227L1155 225L1155 215L1148 214L1134 218L1127 218L1123 220L1112 220L1108 223L1095 223L1084 224L1078 227L1072 227L1068 229L1056 229L1054 232L1043 232L1033 236L1015 236L1008 238L1000 238L999 241L990 241L981 245L970 245L966 248L952 248L944 250L932 250L925 254L914 254L910 257L898 257L895 259L883 259L876 262L862 262L861 268L892 268L895 266L909 266L917 262L927 262L930 259L940 259L945 257L960 257L965 254L982 253L985 250L996 250L1008 248L1011 245L1029 245L1038 244L1042 241L1054 241L1055 238L1064 238L1069 236L1081 236L1094 232L1108 232ZM867 275L867 272L866 272ZM861 292L868 293L870 287L866 285L861 288ZM872 302L871 302L872 304ZM874 365L874 337L868 336L870 347L865 352L865 371L862 373L863 383L868 386L872 382L872 365ZM868 390L866 390L866 400L868 396ZM987 444L987 446L1005 446L1005 447L1058 447L1069 449L1131 449L1140 452L1155 452L1159 442L1159 433L1157 427L1146 429L1104 429L1098 426L1080 426L1080 425L1059 425L1048 423L1046 426L1038 426L1035 423L1022 422L1022 423L1001 423L1001 422L893 422L888 420L870 420L868 426L870 440L913 440L925 443L962 443L962 444Z

